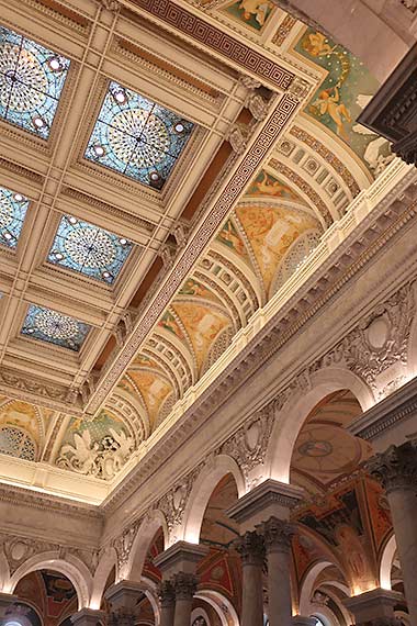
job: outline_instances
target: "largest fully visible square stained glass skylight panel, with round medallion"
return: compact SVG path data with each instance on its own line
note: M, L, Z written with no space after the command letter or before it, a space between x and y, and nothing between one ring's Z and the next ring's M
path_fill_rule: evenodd
M193 126L177 113L112 81L86 157L161 189Z

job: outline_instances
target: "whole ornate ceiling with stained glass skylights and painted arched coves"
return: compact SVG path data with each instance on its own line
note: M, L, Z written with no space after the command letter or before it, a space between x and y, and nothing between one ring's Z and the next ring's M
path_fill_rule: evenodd
M111 484L392 158L377 83L260 0L0 5L0 473Z

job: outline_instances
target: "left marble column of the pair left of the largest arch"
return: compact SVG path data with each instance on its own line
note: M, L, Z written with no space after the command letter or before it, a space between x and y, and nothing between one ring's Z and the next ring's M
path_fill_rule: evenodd
M264 562L263 537L255 530L248 530L243 537L236 539L235 548L240 555L243 564L241 626L262 626L262 568Z

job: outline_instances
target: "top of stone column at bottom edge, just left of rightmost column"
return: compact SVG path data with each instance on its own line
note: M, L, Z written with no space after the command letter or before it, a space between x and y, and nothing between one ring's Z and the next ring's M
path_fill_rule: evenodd
M394 606L402 594L385 589L373 589L343 601L354 616L356 626L398 626Z

